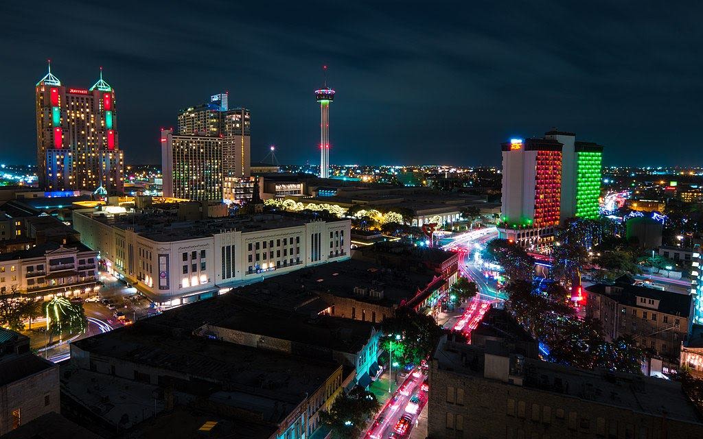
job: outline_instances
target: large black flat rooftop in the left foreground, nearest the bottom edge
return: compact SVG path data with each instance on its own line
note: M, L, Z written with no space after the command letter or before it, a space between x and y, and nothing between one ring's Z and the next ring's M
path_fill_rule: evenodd
M177 319L176 319L177 320ZM189 381L228 389L233 405L278 424L340 367L323 362L195 336L168 320L146 319L82 339L72 346L91 355L185 374ZM205 384L201 386L207 388Z

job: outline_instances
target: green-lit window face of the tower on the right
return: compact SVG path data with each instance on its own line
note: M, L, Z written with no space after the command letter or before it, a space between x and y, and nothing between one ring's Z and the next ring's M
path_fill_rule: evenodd
M598 218L602 152L576 152L576 216Z

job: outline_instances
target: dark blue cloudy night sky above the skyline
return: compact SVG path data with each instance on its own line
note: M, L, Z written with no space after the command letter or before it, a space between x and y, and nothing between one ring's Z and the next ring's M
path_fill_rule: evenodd
M4 1L0 161L34 163L51 58L67 86L103 66L127 164L160 163L160 127L225 90L252 161L317 163L326 64L333 164L499 164L556 126L606 164L703 165L701 2L510 3Z

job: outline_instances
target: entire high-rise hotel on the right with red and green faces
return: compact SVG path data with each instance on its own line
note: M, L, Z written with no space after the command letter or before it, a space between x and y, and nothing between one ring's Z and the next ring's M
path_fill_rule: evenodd
M568 218L598 218L603 147L576 134L503 143L501 237L542 250Z

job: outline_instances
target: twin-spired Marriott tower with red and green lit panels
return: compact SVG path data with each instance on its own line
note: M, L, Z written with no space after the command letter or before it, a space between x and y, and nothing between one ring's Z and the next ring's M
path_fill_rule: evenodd
M90 89L82 89L61 84L49 65L35 96L39 187L122 193L115 90L102 70Z

